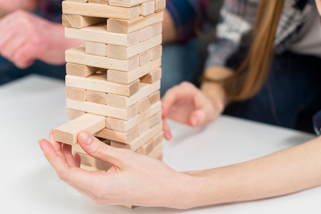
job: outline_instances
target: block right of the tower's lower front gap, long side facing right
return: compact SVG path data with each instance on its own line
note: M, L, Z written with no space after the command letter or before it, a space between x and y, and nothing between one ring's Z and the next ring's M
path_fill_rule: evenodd
M130 72L107 70L107 80L109 82L115 82L119 84L129 84L146 74L158 69L162 65L162 59L150 61L144 66L138 67L137 69Z

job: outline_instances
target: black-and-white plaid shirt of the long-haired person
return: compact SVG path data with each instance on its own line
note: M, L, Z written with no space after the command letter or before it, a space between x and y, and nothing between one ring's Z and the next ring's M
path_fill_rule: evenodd
M226 66L232 57L239 59L250 45L250 34L259 0L225 0L220 11L216 38L209 46L206 67ZM309 17L313 0L286 0L275 35L275 53L286 51Z

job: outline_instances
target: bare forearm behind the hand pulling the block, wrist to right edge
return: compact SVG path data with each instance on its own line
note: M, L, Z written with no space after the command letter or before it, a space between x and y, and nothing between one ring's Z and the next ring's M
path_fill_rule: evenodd
M263 199L321 185L321 137L271 155L225 167L189 172L189 204L201 206Z

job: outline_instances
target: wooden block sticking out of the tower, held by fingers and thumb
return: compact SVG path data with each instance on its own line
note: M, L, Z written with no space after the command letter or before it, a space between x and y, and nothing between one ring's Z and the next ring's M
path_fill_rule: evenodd
M106 117L87 113L57 127L57 129L53 131L53 135L55 141L73 145L78 142L77 135L80 131L86 130L93 134L105 127Z

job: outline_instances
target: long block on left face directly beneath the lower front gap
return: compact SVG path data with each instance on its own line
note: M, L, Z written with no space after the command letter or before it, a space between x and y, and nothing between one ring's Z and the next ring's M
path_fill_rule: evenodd
M117 84L113 82L97 79L97 76L104 74L93 74L89 77L77 77L66 75L66 86L78 89L86 89L110 94L133 96L139 90L139 79L130 84ZM106 78L107 79L107 78Z

